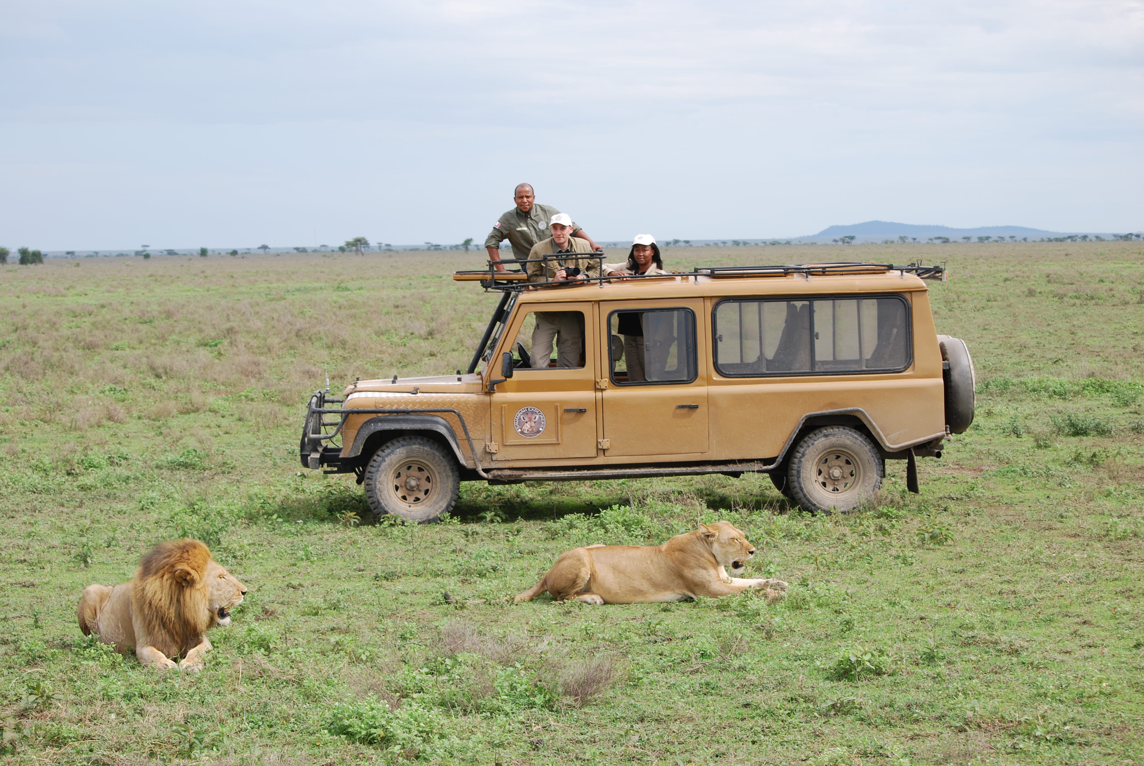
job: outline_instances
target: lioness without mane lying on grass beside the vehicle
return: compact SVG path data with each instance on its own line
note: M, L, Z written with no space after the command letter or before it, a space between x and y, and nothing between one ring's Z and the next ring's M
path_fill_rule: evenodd
M726 521L699 524L662 545L589 545L561 555L539 583L516 597L531 601L545 591L557 601L586 603L648 603L710 599L741 593L748 587L785 591L781 579L740 579L755 554L741 530Z

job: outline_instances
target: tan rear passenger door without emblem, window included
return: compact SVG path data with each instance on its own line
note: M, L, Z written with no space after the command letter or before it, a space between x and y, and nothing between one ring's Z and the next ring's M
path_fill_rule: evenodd
M607 457L656 461L708 451L706 317L701 298L604 301L601 366L607 378L603 443Z

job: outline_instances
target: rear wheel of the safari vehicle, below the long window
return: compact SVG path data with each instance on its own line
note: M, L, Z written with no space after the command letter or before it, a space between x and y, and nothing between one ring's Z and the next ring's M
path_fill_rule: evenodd
M827 426L807 434L791 456L787 487L811 513L847 512L873 497L885 475L885 461L863 433Z

